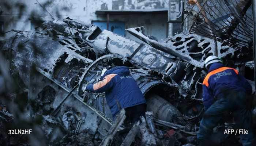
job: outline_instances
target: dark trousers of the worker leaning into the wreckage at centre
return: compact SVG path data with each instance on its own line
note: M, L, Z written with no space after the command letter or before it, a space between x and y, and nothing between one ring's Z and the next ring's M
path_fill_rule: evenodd
M147 104L139 104L133 107L125 108L125 123L134 124L140 120L140 116L145 116Z

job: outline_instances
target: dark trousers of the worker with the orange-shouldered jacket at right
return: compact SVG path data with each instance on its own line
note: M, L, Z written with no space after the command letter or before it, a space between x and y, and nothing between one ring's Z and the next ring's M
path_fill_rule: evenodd
M228 93L218 96L218 100L211 105L204 113L200 122L200 128L197 133L197 139L207 143L210 138L212 130L217 126L222 119L223 113L226 111L232 112L236 122L236 129L248 130L248 134L240 134L243 146L251 146L253 139L252 134L252 115L251 108L248 108L248 99L246 99L245 92L229 91Z

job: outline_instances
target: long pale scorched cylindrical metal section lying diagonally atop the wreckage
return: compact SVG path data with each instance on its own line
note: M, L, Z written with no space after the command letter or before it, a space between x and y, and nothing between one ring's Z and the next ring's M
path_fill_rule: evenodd
M172 58L171 55L164 54L142 43L126 39L111 31L103 30L94 40L88 41L93 43L95 49L121 55L134 64L163 74L170 74L174 70L175 61L170 59Z

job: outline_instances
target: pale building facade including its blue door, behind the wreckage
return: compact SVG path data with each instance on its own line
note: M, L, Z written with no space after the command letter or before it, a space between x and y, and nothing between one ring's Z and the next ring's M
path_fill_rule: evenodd
M169 0L1 0L4 12L0 16L1 31L31 30L36 24L31 19L78 19L108 29L130 39L127 28L144 26L148 35L161 41L170 30L168 20ZM169 31L169 34L168 34ZM171 34L170 34L171 32ZM0 39L14 35L9 32Z

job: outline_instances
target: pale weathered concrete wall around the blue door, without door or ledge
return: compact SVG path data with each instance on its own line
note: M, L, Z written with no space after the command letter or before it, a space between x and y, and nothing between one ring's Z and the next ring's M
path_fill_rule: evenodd
M121 9L155 9L168 8L168 0L38 0L45 5L47 11L55 19L63 19L69 16L71 19L79 19L87 22L106 21L105 15L96 15L96 10L121 10ZM29 18L40 16L45 20L51 20L49 14L43 11L36 0L1 0L0 5L4 9L0 21L4 21L4 31L30 30ZM149 35L154 35L159 40L167 37L167 12L166 14L141 14L141 15L110 15L110 21L125 22L125 28L144 26ZM33 27L33 26L32 26ZM14 35L8 33L0 39ZM126 33L126 37L131 36Z

